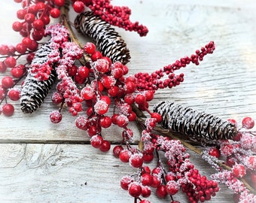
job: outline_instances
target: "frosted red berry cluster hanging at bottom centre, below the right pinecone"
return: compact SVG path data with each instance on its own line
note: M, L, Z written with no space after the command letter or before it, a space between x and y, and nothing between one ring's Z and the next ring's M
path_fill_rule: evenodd
M218 192L217 181L207 180L205 176L200 175L190 162L190 156L180 141L152 133L158 122L160 120L157 118L148 118L145 121L142 151L136 150L129 144L126 144L126 149L122 146L114 147L114 155L122 162L130 162L131 166L139 168L137 173L124 176L120 180L120 186L128 190L135 200L139 199L139 202L150 202L142 198L148 198L152 189L155 189L158 198L166 198L169 195L173 203L178 202L174 201L173 195L180 189L187 194L190 202L210 200L211 196ZM151 155L153 157L154 152L157 153L158 161L157 167L151 170L143 163L151 162L153 159ZM160 152L166 157L168 171L160 161Z

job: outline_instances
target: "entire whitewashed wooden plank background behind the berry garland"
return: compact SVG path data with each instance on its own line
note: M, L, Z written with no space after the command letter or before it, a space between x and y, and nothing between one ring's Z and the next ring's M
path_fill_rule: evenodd
M256 119L256 3L238 1L142 1L115 0L127 5L131 20L148 26L148 36L117 29L131 52L130 74L154 71L194 53L209 41L216 50L200 66L181 69L184 83L158 91L151 108L161 100L181 102L219 117L245 116ZM0 44L17 44L20 36L11 29L20 5L3 1L0 13ZM75 14L71 18L74 19ZM181 72L179 71L179 72ZM35 114L19 110L13 117L0 116L0 200L1 202L133 202L120 189L120 178L134 169L112 156L87 145L87 135L75 128L67 111L62 123L50 123L49 114L57 107L50 96ZM139 131L136 125L136 140ZM120 141L120 130L103 134ZM191 153L194 164L209 177L215 173L206 162ZM154 165L154 163L152 163ZM152 202L159 200L155 195ZM175 199L187 202L183 194ZM232 202L233 194L221 185L212 202Z

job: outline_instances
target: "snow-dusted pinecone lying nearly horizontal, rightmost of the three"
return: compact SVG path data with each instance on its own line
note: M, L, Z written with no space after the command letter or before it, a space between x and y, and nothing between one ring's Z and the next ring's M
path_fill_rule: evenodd
M197 140L231 139L237 134L233 123L174 102L160 102L154 106L154 112L162 116L163 128Z

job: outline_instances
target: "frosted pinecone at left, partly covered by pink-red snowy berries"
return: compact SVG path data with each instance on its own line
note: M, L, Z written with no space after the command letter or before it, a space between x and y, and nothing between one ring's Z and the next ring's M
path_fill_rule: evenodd
M32 65L47 62L50 50L50 42L42 45L37 53L35 53ZM23 89L20 92L20 106L24 114L31 114L40 107L49 89L56 80L56 71L54 68L47 80L39 80L35 77L36 74L37 73L32 73L31 68L29 69L26 79L24 80Z

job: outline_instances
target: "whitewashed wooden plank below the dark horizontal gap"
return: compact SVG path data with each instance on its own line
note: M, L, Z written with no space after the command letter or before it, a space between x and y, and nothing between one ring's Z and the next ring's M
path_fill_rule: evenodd
M120 188L120 179L136 169L115 159L111 152L80 144L0 144L0 150L1 202L133 202ZM198 156L192 155L191 161L203 175L215 172ZM174 197L187 202L182 193ZM162 202L154 189L148 199ZM221 187L211 202L228 203L230 199L230 190Z

